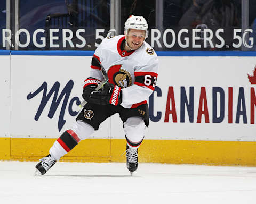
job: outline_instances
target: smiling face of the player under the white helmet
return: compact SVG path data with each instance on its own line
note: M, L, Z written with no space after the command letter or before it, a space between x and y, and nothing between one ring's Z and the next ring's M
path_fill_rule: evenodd
M133 50L138 49L145 40L145 30L129 29L128 35L126 36L127 44Z

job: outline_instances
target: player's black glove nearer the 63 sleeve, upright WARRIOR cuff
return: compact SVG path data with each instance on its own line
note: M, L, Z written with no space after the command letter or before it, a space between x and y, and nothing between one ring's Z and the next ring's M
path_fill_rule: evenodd
M103 86L103 89L91 92L89 97L90 100L94 100L94 103L99 105L117 106L122 103L121 87L108 82Z

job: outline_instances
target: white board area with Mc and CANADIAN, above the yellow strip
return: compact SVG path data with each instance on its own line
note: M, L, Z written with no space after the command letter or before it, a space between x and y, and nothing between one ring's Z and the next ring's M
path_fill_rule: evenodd
M256 141L256 85L248 78L254 74L255 57L159 57L159 62L157 88L148 99L147 139ZM12 56L12 137L55 138L68 129L76 118L70 115L69 107L76 108L70 101L82 100L90 64L91 56ZM42 89L29 95L46 84L45 94ZM43 96L54 86L57 93L58 84L54 101L68 84L67 101L63 96L50 118L52 94L36 115ZM103 122L94 137L110 135L124 138L118 114L111 125L110 120Z

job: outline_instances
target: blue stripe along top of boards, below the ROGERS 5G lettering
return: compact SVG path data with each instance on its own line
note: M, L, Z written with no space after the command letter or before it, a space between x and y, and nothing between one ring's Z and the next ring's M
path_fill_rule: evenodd
M256 51L156 51L158 56L256 56ZM0 55L92 56L94 51L51 50L14 51L0 50Z

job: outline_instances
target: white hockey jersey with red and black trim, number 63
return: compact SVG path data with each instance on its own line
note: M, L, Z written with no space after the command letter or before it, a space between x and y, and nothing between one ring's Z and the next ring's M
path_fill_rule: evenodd
M146 104L154 91L157 80L158 58L151 46L144 42L134 51L121 50L124 35L105 38L95 50L94 56L105 67L109 82L122 87L124 108ZM100 67L91 65L90 77L102 80Z

